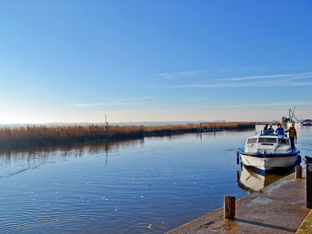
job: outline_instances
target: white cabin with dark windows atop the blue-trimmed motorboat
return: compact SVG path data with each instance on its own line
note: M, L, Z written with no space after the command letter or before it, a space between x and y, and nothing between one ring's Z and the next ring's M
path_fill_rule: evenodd
M286 154L291 151L290 139L283 133L275 131L257 131L255 136L247 139L245 152L267 154Z

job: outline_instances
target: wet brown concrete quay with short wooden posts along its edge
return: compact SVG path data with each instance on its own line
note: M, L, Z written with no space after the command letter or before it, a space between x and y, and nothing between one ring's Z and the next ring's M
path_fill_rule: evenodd
M302 179L292 173L237 200L233 220L223 218L222 207L166 234L295 233L311 211L305 208L305 174L302 168Z

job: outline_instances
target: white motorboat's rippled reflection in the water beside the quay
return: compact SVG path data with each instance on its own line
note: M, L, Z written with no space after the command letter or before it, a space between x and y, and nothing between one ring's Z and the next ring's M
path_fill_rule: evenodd
M241 163L241 172L237 171L237 185L247 192L255 192L277 180L295 172L295 166L283 170L262 172L257 168Z

